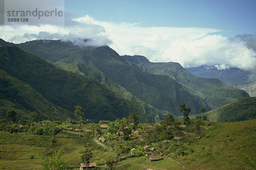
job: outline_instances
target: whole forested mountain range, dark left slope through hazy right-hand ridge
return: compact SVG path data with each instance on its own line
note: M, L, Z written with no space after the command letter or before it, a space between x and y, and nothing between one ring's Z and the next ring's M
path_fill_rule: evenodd
M192 109L191 114L197 114L201 107L209 111L249 96L245 91L224 85L219 79L196 77L179 63L153 63L143 56L121 57L108 46L81 48L72 42L61 40L35 40L21 44L0 40L0 45L17 46L61 69L74 72L54 67L52 69L58 74L46 74L45 71L50 71L49 64L40 66L43 60L38 59L34 61L24 58L17 61L20 64L13 65L10 62L6 65L6 54L18 57L24 51L3 47L5 50L1 52L3 62L0 69L29 84L49 102L67 111L73 111L74 105L84 106L87 109L86 116L90 116L90 119L111 120L134 112L144 122L157 122L168 113L180 116L179 105L182 102ZM69 79L66 78L67 75ZM31 76L32 78L26 78ZM65 82L66 79L68 82ZM96 86L91 87L88 83ZM77 99L79 94L81 98ZM127 100L120 98L118 94Z

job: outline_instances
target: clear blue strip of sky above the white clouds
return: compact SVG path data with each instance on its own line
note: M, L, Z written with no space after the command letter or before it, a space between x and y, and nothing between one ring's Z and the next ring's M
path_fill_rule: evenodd
M142 27L221 29L228 37L255 34L256 0L65 0L65 9L96 20Z

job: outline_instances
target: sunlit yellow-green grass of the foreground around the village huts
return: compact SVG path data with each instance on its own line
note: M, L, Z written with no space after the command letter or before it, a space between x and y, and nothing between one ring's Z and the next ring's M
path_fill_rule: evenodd
M149 125L143 124L142 127ZM56 125L58 126L58 125ZM107 159L116 158L116 146L122 143L122 140L111 141L109 144L103 143L103 146L93 140L92 133L86 133L86 129L93 129L96 124L83 125L83 136L79 138L78 132L65 130L65 128L77 125L68 125L63 130L55 134L54 140L48 135L34 135L29 133L8 133L0 132L0 170L40 170L43 169L43 161L47 156L52 157L54 151L61 148L63 152L62 159L67 161L68 166L74 170L79 169L81 155L84 153L85 145L92 150L93 157L90 162L96 164L105 164ZM190 127L192 128L192 127ZM191 129L185 129L190 131ZM106 133L102 129L102 133ZM138 143L147 134L140 139L133 139L127 144ZM193 133L193 132L192 132ZM196 133L193 133L196 134ZM163 160L148 161L144 155L139 157L130 157L115 164L116 170L146 170L148 168L155 170L181 170L181 167L168 159L168 156L177 160L188 170L242 170L247 166L239 163L244 162L252 165L250 160L244 155L249 155L247 148L256 156L256 119L242 122L214 123L201 126L199 133L201 138L195 139L195 136L181 136L180 142L170 142L167 149L161 149L163 141L152 143L159 148L163 154ZM129 143L130 142L130 143ZM125 143L124 143L125 144ZM141 142L141 144L145 144ZM183 149L183 155L175 155L170 149L174 144ZM122 155L130 156L131 154ZM121 156L121 157L122 157ZM98 166L96 169L107 169L105 165Z

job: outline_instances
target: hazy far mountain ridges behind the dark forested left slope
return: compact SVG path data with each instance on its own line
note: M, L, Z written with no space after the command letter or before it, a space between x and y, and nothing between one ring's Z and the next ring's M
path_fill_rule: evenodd
M138 99L157 108L163 115L172 113L174 116L179 116L179 105L182 102L192 108L191 114L197 114L201 107L209 111L248 96L244 91L225 86L218 79L193 76L179 63L157 63L159 68L156 70L155 66L148 66L151 62L146 58L140 56L135 62L131 62L108 46L81 48L73 45L72 42L61 40L34 40L16 46L42 59L82 63L96 71L101 71ZM141 64L143 62L145 65Z

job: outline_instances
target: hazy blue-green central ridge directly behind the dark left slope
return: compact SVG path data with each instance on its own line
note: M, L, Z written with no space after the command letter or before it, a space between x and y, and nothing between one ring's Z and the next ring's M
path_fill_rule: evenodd
M61 40L36 40L17 46L42 59L66 63L80 62L102 71L113 82L159 109L161 113L178 116L179 105L182 102L192 108L192 114L197 113L201 107L210 108L203 99L191 95L174 79L140 71L129 65L108 46L80 48L71 42L61 42Z

